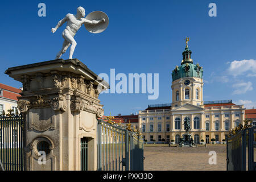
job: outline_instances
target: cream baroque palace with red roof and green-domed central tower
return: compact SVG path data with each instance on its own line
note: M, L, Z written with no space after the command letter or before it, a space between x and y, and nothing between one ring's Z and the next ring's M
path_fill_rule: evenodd
M193 64L191 53L186 46L181 65L172 71L172 103L148 105L139 111L138 127L148 142L164 139L178 143L185 134L184 119L188 118L195 143L202 139L210 143L213 138L221 143L245 119L245 106L232 100L203 101L203 67Z

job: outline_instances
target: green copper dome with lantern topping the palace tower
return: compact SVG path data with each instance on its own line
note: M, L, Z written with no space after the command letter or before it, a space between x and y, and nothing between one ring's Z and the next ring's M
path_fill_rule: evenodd
M203 78L203 67L200 67L198 63L196 65L193 64L191 53L188 46L186 46L185 51L182 53L183 60L181 61L181 65L179 67L176 66L172 71L172 81L184 77Z

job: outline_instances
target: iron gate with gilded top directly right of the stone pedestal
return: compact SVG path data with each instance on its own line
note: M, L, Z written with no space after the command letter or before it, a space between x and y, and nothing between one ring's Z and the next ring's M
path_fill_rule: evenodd
M99 171L143 171L143 136L111 120L98 120L97 168Z

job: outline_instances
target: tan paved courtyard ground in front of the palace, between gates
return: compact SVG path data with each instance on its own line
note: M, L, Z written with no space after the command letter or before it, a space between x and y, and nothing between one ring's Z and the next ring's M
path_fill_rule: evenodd
M216 151L217 164L210 165L209 151ZM226 171L226 145L196 147L168 147L168 145L144 145L144 170Z

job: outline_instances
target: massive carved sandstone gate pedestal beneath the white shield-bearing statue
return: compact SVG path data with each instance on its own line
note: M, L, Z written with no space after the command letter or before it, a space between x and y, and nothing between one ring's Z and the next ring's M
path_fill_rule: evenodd
M97 169L98 100L108 89L77 59L52 60L9 68L5 72L23 83L18 109L26 114L24 167L27 170L80 170L81 139L86 139L89 170ZM46 152L46 164L40 151Z

